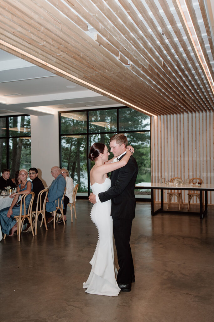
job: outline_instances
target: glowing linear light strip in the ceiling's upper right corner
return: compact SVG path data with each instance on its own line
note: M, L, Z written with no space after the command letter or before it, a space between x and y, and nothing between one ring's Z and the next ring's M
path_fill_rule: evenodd
M203 51L202 51L202 49L201 49L201 45L200 45L200 42L199 42L199 40L198 40L198 36L197 36L197 34L196 34L196 32L195 32L195 28L194 28L194 25L193 25L193 21L192 21L192 19L191 19L191 16L190 16L189 10L188 10L188 8L187 8L186 1L185 1L185 0L183 0L183 1L184 1L184 4L185 4L185 7L186 7L186 10L187 10L187 13L188 13L188 16L189 16L190 22L191 22L191 24L192 24L192 28L193 28L194 33L195 33L195 34L194 34L194 36L196 37L197 42L198 42L198 45L199 45L199 47L200 47L201 55L202 55L202 57L203 57L203 61L204 61L205 65L206 65L206 67L207 67L207 70L209 71L210 78L209 78L209 76L208 76L208 74L207 74L207 71L206 71L206 69L205 69L205 67L204 67L204 63L203 63L203 62L202 62L202 60L201 60L201 56L199 55L199 52L198 52L198 50L197 50L197 47L196 47L195 41L194 41L194 39L193 39L193 35L192 35L192 33L191 33L191 31L190 31L190 28L189 28L189 26L188 26L188 23L187 23L187 21L186 21L186 18L185 18L184 12L183 12L182 7L181 7L181 4L180 4L180 1L179 1L179 0L176 0L176 3L177 3L177 5L178 5L178 8L179 8L179 10L180 10L180 13L181 13L181 15L182 15L182 17L183 17L184 24L185 24L185 26L186 26L186 28L187 28L187 31L188 31L188 33L189 33L189 36L190 36L191 41L192 41L192 43L193 43L193 46L194 46L194 48L195 48L196 54L197 54L197 56L198 56L198 59L199 59L199 60L200 60L200 62L201 62L202 68L203 68L203 70L204 70L204 72L205 72L205 74L206 74L206 76L207 76L207 80L208 80L208 82L209 82L209 84L210 84L210 87L211 87L211 89L212 89L212 92L213 92L213 94L214 94L214 81L213 81L213 79L212 79L212 76L211 76L211 73L210 73L209 67L208 67L208 65L207 65L207 62L206 62L206 60L205 60L205 57L204 57ZM211 82L210 82L210 79L211 79L211 81L212 81L212 84L211 84Z

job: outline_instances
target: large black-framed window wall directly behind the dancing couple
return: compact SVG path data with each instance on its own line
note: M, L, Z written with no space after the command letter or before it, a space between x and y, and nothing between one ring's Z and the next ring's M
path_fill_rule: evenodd
M109 139L116 133L124 133L135 148L136 183L151 182L149 116L128 107L59 112L60 167L68 169L74 185L79 183L78 196L87 198L90 193L91 145L102 142L109 147ZM135 195L150 198L150 190L136 189Z

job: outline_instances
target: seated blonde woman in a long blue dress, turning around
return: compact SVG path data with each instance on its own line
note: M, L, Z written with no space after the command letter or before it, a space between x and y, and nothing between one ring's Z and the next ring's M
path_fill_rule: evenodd
M26 169L21 169L19 171L19 177L21 179L21 184L18 185L17 192L10 195L10 198L13 198L11 206L0 211L0 224L2 232L6 235L9 235L11 230L9 236L16 234L15 231L17 230L17 222L13 217L18 216L20 212L20 204L17 204L19 196L22 194L29 194L29 196L26 196L25 198L27 209L31 199L30 192L33 190L32 182L30 180L27 180L28 171ZM22 209L24 211L24 205L22 205Z

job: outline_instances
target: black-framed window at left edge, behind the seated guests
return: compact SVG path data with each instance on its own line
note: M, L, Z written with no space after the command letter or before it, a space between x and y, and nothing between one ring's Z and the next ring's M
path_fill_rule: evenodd
M0 171L31 167L30 115L0 117Z

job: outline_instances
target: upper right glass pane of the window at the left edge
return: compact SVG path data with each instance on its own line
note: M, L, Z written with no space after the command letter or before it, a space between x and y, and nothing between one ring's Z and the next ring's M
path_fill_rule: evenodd
M9 136L30 136L30 116L9 117Z

